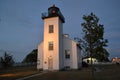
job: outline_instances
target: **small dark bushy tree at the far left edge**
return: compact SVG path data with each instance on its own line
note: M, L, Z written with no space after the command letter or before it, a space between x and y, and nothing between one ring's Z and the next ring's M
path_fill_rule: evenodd
M12 66L14 63L12 55L7 54L7 52L5 52L3 57L0 57L0 63L4 68Z

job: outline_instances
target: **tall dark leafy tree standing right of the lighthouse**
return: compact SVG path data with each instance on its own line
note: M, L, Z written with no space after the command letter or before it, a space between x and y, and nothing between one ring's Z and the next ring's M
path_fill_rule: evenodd
M85 50L89 54L87 56L97 58L99 61L107 61L109 53L105 49L108 40L104 39L104 26L99 24L99 18L91 13L83 16L81 24L84 33L83 41L86 44Z

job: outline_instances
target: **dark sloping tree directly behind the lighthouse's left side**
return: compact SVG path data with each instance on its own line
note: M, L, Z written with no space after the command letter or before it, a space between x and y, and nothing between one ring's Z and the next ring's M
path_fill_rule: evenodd
M37 62L37 49L30 52L22 62Z

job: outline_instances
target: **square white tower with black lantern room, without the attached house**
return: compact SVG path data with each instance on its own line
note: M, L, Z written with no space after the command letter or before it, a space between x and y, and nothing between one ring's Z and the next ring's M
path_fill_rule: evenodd
M43 69L59 70L63 66L63 23L65 22L59 8L53 5L48 13L42 14L44 20Z

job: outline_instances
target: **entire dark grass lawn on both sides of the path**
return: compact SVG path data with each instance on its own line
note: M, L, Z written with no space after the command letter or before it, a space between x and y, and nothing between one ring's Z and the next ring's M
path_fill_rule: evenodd
M120 65L97 65L94 71L94 80L120 80ZM40 73L35 67L21 67L13 70L0 70L0 80L14 80L27 75ZM11 74L11 75L10 75ZM2 76L1 76L2 75ZM26 80L93 80L91 68L81 70L48 72Z

